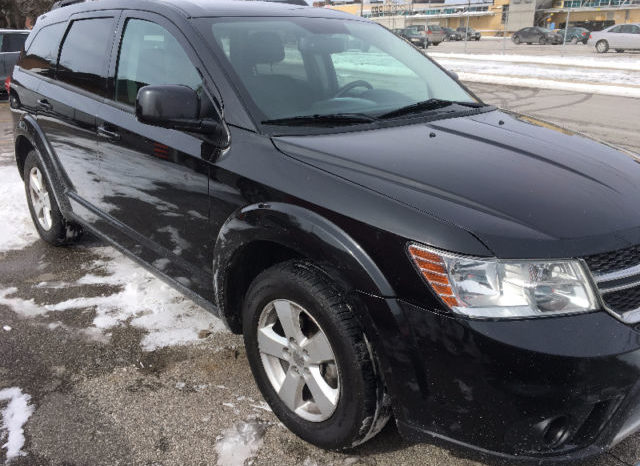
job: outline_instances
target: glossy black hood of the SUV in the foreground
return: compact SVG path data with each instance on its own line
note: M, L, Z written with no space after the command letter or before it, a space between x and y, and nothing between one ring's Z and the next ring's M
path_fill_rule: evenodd
M498 257L579 257L640 244L638 157L529 117L492 111L274 144L467 230Z

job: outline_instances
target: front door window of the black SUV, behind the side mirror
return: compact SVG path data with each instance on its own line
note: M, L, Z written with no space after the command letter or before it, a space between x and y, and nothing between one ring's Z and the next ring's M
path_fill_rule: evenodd
M162 84L202 91L202 78L175 37L155 23L128 20L118 57L116 100L135 105L141 87Z

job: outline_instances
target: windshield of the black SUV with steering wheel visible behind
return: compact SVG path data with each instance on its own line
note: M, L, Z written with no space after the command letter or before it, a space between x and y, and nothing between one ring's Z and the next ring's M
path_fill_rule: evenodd
M339 115L339 122L353 124L425 101L477 103L379 25L301 17L195 21L235 71L263 122ZM431 107L422 111L436 110Z

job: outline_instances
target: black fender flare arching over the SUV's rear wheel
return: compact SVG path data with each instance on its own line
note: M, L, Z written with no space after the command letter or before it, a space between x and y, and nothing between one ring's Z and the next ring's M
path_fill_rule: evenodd
M51 190L60 207L60 211L63 215L67 215L71 212L71 204L65 194L69 186L68 178L55 157L53 148L47 141L44 132L32 115L23 114L14 130L14 149L18 167L20 167L18 163L18 141L20 138L26 139L35 148L36 156L44 169L45 175L51 182ZM20 177L23 177L23 173L20 173Z

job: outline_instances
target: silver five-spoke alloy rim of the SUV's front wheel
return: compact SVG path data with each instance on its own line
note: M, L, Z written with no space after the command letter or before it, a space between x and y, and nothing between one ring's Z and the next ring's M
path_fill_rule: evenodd
M302 306L286 299L267 304L258 321L258 349L271 385L291 411L311 422L331 417L340 396L336 358Z

